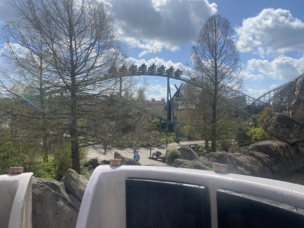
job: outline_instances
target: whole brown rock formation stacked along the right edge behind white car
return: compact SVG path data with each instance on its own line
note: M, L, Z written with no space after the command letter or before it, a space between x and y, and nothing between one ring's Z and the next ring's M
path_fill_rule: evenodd
M255 142L243 150L209 153L202 158L193 156L193 150L182 156L181 149L181 159L176 159L173 166L213 170L213 163L219 163L229 165L230 173L263 178L281 178L301 169L304 167L304 74L297 79L288 110L291 117L272 113L263 125L267 133L280 141Z

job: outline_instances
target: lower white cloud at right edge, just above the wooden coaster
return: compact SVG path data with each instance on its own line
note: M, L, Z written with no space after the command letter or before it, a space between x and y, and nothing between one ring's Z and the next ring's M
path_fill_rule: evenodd
M247 61L245 79L261 81L264 79L276 79L289 81L297 78L304 72L304 55L300 59L293 59L285 55L268 60L251 59Z

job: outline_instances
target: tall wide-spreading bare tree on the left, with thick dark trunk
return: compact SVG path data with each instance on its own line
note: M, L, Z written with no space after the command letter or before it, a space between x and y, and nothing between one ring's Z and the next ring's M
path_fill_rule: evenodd
M124 124L140 127L142 119L123 102L136 81L108 77L126 61L115 21L98 0L10 3L19 21L2 29L3 53L10 65L2 86L18 97L31 96L40 115L57 125L47 130L63 129L61 140L71 143L72 168L80 173L80 147L113 143L130 133L122 130Z

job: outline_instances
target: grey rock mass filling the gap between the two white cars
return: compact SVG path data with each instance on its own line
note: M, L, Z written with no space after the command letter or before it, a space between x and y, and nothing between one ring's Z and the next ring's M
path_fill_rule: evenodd
M74 228L87 182L72 170L62 182L32 177L32 227Z

